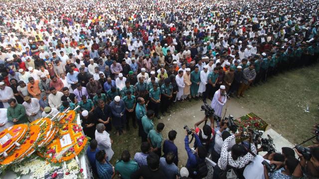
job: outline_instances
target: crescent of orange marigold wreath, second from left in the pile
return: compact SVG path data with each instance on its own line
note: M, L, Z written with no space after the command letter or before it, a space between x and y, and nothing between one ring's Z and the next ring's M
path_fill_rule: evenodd
M32 149L36 144L36 140L40 136L40 127L37 125L30 126L29 133L26 135L27 138L20 145L20 147L14 150L12 155L7 156L3 161L0 161L1 165L8 165L13 163L14 161L18 160L21 156L23 156L25 153L27 153L30 149Z

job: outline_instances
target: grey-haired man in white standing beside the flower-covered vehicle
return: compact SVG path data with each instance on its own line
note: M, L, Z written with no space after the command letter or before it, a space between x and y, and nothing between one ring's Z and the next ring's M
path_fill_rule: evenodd
M110 161L114 152L112 150L113 141L110 138L110 134L105 131L105 126L102 123L96 125L95 140L98 142L98 149L104 150L107 154L107 160Z

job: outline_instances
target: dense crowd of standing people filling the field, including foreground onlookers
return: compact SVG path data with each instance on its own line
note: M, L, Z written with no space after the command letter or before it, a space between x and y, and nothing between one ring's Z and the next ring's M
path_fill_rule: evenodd
M196 152L186 135L189 159L179 173L176 132L161 147L164 124L155 127L153 119L170 114L176 102L207 99L221 117L225 96L242 98L273 75L316 63L318 7L318 0L2 1L0 131L80 106L99 178L198 178L193 169L209 152L218 179L218 172L244 168L254 157L232 144L238 134L223 132L224 123L216 133L213 123L202 130L203 121L196 123ZM109 133L119 136L130 126L139 128L142 152L133 161L124 151L114 172ZM214 147L207 147L213 139ZM271 179L290 179L304 164L293 165L294 155L270 156L283 167ZM313 158L318 177L318 155Z

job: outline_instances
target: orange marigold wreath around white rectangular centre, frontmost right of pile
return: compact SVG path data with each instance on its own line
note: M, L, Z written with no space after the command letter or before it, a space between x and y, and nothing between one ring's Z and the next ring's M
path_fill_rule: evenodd
M57 137L47 146L46 153L40 154L40 156L44 156L53 163L61 163L75 158L75 156L77 156L83 150L88 141L88 139L82 133L82 127L77 124L71 123L64 125L62 129L59 129L59 134L60 137L69 134L72 143L61 148L60 138ZM62 154L61 158L56 159L57 155L60 155L60 153L65 149L68 150Z

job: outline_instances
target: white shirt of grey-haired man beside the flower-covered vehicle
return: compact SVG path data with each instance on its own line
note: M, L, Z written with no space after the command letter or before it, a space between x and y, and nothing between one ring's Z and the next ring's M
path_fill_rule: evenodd
M108 161L110 161L114 155L110 134L106 131L99 133L97 130L95 130L95 140L98 142L98 149L104 150L108 156Z

